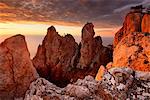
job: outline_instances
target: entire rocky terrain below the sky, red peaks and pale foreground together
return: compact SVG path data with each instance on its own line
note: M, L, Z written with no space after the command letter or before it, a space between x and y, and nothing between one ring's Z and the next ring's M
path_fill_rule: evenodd
M149 13L127 14L113 48L94 37L92 23L83 27L80 44L51 26L32 60L24 36L6 39L0 100L149 100L149 22Z

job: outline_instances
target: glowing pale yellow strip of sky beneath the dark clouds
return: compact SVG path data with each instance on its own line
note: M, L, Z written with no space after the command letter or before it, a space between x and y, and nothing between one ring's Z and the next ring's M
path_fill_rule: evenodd
M47 23L36 23L36 22L26 22L24 23L13 23L6 22L0 23L0 35L46 35L47 28L53 25L60 35L71 34L73 36L81 36L81 26L69 26L69 25L56 25ZM119 30L117 28L94 28L95 35L102 37L113 37L114 34Z

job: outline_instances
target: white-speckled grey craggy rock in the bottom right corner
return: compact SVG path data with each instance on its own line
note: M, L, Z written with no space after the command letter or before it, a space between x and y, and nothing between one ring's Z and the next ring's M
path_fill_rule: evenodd
M149 100L149 78L150 72L115 67L105 72L101 85L117 100Z

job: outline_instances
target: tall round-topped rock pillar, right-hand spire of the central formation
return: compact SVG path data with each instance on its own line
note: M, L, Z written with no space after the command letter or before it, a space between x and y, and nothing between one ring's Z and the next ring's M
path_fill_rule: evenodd
M82 40L80 50L81 58L78 67L89 67L92 63L93 58L99 59L99 57L95 56L96 53L98 53L98 49L102 47L102 40L101 37L97 37L96 44L96 39L94 39L94 35L94 25L92 23L87 23L82 29Z

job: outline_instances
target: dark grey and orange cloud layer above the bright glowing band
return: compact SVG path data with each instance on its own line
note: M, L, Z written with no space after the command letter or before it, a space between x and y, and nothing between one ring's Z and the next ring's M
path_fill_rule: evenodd
M0 0L1 21L94 22L99 27L119 26L126 11L149 0ZM4 9L1 6L7 6ZM59 23L58 23L59 24Z

